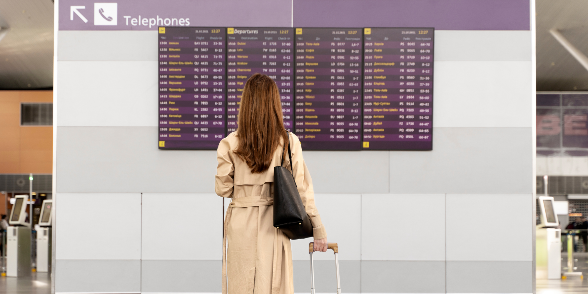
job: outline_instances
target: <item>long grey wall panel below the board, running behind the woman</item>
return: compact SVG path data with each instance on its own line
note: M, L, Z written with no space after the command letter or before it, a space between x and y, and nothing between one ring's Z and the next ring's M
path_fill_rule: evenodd
M216 151L159 151L156 127L58 127L59 192L214 193ZM387 193L388 152L304 152L316 193Z

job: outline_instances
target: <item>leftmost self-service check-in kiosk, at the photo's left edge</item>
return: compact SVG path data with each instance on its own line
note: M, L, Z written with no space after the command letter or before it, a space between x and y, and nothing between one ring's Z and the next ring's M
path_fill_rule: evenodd
M6 276L31 276L31 224L25 222L29 195L16 195L6 228Z

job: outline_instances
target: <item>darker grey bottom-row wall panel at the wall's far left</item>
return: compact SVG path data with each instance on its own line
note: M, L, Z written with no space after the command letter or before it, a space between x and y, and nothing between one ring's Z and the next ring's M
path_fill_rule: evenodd
M55 262L55 293L141 292L141 260L57 259Z

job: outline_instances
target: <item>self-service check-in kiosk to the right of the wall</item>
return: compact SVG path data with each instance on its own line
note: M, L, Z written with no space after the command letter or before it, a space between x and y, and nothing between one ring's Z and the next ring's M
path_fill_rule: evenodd
M537 279L562 278L562 229L553 205L553 197L539 196L536 233Z

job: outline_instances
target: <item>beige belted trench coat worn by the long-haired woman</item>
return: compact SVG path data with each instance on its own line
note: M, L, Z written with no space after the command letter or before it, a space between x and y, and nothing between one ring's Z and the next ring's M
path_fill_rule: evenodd
M302 146L295 135L289 133L289 137L293 175L312 222L314 238L325 238ZM237 145L237 132L233 132L220 141L217 150L215 191L232 198L225 216L222 293L293 294L290 239L273 227L273 168L280 165L282 148L274 153L267 171L251 173L247 163L233 153ZM287 154L284 166L290 170Z

